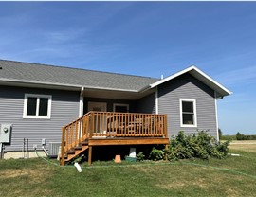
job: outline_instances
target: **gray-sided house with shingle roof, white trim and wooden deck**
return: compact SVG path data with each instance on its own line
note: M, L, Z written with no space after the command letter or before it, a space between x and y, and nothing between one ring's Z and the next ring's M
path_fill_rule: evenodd
M147 142L126 140L124 144L166 144L168 137L181 130L186 134L208 130L218 138L217 99L230 94L195 66L154 79L0 61L1 131L3 125L11 124L5 152L22 152L24 138L29 139L31 151L41 149L42 144L48 150L49 145L63 141L63 146L70 145L64 153L89 136L100 140L101 145L107 145L102 142L106 138L121 144L114 138L127 136L146 138ZM84 143L79 152L89 148L91 153L93 145L97 143Z

